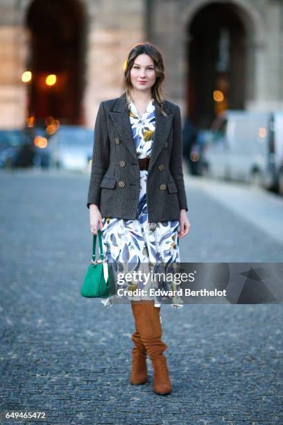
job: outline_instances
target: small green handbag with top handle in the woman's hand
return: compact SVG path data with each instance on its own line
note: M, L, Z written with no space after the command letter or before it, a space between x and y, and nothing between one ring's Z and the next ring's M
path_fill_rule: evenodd
M85 280L80 290L82 297L106 298L114 295L116 286L112 273L112 267L107 263L103 255L101 231L98 230L100 259L95 259L96 235L92 244L92 260L85 274Z

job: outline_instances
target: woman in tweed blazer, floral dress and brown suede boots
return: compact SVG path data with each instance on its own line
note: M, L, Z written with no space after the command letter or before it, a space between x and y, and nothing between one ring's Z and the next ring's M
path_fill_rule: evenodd
M180 263L178 238L189 233L180 108L162 99L163 81L160 52L148 42L137 44L128 54L125 92L101 102L96 117L87 199L90 228L97 234L100 226L106 258L119 272L121 265L122 269L133 265L131 270L145 267L152 272L161 263ZM147 282L143 278L137 283L123 281L119 288L125 294L127 289L144 289L144 294L126 294L135 320L130 383L147 381L148 354L153 390L169 394L172 386L160 318L161 302L168 297L148 297L146 291L157 288L150 278ZM102 302L112 306L116 297ZM172 306L182 307L182 299L171 301Z

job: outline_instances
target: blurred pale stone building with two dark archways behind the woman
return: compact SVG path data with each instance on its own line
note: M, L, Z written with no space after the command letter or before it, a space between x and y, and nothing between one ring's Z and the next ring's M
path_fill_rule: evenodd
M165 97L200 128L226 109L283 107L281 0L0 0L0 128L93 128L129 49L164 54Z

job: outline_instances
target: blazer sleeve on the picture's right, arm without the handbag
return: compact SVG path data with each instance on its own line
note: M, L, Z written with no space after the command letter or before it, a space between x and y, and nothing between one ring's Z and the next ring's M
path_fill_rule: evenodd
M170 158L170 170L178 189L178 199L180 210L183 208L187 211L187 197L184 184L184 176L182 172L182 122L181 112L178 105L175 108L173 118L173 147Z

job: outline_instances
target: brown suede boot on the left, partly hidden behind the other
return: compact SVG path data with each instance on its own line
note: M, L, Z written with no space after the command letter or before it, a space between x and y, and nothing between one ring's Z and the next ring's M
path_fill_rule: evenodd
M133 385L141 385L148 380L148 371L146 365L146 348L141 342L139 332L132 334L132 342L135 347L132 349L132 372L130 374L130 383Z

